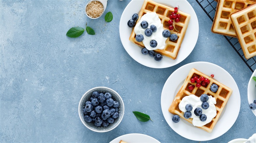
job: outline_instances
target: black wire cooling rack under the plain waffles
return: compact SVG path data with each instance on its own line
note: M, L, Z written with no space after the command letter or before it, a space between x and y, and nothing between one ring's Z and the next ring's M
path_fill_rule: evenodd
M196 1L200 5L200 7L203 8L203 11L208 15L208 17L213 22L215 12L216 12L217 2L214 0L196 0ZM234 48L237 54L242 58L242 60L245 62L248 68L253 72L256 68L256 57L254 56L249 59L246 59L243 53L243 50L238 42L238 39L229 37L229 36L224 36L224 37L229 42L229 44Z

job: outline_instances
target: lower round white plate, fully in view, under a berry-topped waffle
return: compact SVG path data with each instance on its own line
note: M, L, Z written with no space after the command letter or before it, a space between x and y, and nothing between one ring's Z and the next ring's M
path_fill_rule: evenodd
M206 75L214 74L214 79L233 90L217 124L211 133L195 127L193 124L183 119L181 119L178 123L174 123L172 121L173 114L168 111L174 97L178 93L185 78L192 68L195 68ZM196 141L211 140L226 133L235 123L239 114L240 105L240 93L233 77L220 66L208 62L189 63L174 71L166 80L161 94L161 108L166 122L179 135Z

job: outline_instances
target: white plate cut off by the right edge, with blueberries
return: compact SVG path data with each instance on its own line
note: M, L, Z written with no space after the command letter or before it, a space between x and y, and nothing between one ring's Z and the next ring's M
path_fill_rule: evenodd
M253 76L256 76L256 70L252 73L251 78L248 83L247 88L247 96L248 96L248 103L253 103L253 101L256 99L256 82L252 79ZM248 105L249 107L249 105ZM249 109L249 108L248 108ZM256 116L256 110L252 110L252 113Z

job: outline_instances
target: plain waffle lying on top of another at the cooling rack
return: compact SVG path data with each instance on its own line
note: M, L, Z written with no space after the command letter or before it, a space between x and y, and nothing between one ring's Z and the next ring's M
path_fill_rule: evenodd
M230 14L245 58L256 56L256 4Z

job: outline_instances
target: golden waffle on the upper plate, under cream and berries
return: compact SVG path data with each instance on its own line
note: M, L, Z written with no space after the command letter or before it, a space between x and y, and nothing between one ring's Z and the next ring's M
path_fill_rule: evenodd
M182 6L181 6L182 7ZM174 11L174 8L156 3L154 1L151 0L145 0L140 11L139 11L139 19L137 20L136 24L139 23L140 18L146 14L147 12L156 12L157 15L159 16L161 23L163 24L163 29L167 29L169 30L169 24L168 21L170 20L170 15L171 13ZM171 41L169 38L167 38L167 40L165 41L166 45L165 48L160 50L154 50L157 53L160 53L161 55L170 57L172 59L176 59L178 52L180 50L181 47L181 42L184 38L184 35L186 33L186 29L188 26L188 22L190 20L190 15L187 13L184 13L180 10L178 10L177 14L181 14L180 17L180 22L175 23L175 28L179 31L177 32L175 29L174 30L169 30L171 32L171 34L177 34L178 36L178 40L175 41ZM136 45L140 46L140 47L145 47L144 44L142 42L138 42L136 39L136 34L134 32L134 28L132 30L132 33L130 35L129 40L133 43L135 43Z

